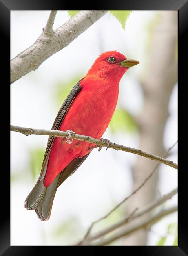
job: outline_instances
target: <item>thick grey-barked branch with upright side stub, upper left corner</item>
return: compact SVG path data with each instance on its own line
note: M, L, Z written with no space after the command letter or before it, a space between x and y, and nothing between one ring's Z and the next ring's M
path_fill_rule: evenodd
M43 61L69 45L106 13L104 10L80 11L56 30L51 30L51 33L43 31L33 45L11 60L10 84L37 69ZM49 30L54 18L55 11L51 12L44 30Z

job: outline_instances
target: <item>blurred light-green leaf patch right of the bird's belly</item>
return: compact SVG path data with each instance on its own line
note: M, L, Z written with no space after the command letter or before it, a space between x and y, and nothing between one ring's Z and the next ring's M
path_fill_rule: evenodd
M115 110L109 127L112 133L119 131L134 133L137 131L137 123L134 117L123 108Z

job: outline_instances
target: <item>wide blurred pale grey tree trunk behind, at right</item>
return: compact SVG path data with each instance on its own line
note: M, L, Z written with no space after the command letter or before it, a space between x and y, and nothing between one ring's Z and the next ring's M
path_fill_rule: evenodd
M168 103L172 89L177 82L177 63L175 61L175 44L177 39L177 11L161 12L161 20L153 31L150 48L148 76L141 82L145 102L139 116L140 147L146 152L162 156L164 154L163 134L168 118ZM174 138L176 140L177 138ZM132 169L133 190L155 168L155 163L138 156ZM149 204L156 197L158 172L133 195L126 206L126 214L136 207ZM142 222L151 217L148 213L137 219ZM147 230L142 228L123 239L124 245L146 245Z

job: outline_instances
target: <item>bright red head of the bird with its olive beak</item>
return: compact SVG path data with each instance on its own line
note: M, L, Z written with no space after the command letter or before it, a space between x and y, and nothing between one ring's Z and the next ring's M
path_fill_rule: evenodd
M139 61L128 59L115 50L103 52L95 60L87 75L99 75L104 78L113 78L120 81L126 70L139 64Z

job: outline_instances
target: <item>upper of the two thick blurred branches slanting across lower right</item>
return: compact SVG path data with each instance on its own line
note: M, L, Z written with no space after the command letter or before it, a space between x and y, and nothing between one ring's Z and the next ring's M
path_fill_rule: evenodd
M131 215L129 215L128 217L123 218L121 221L119 221L119 222L111 225L110 227L98 232L97 234L93 234L93 235L88 236L87 239L82 240L78 245L83 245L85 243L91 243L94 240L99 239L102 236L105 236L106 234L116 230L117 228L124 226L126 223L132 221L133 219L136 219L136 218L146 214L148 211L153 210L157 206L160 206L161 204L163 204L167 200L171 199L177 193L178 193L178 189L174 189L173 191L171 191L167 195L164 195L163 197L159 198L158 200L154 200L153 202L148 204L146 207L141 209L139 212L134 214L135 211L138 209L138 208L136 208L133 211L133 213L131 213Z

